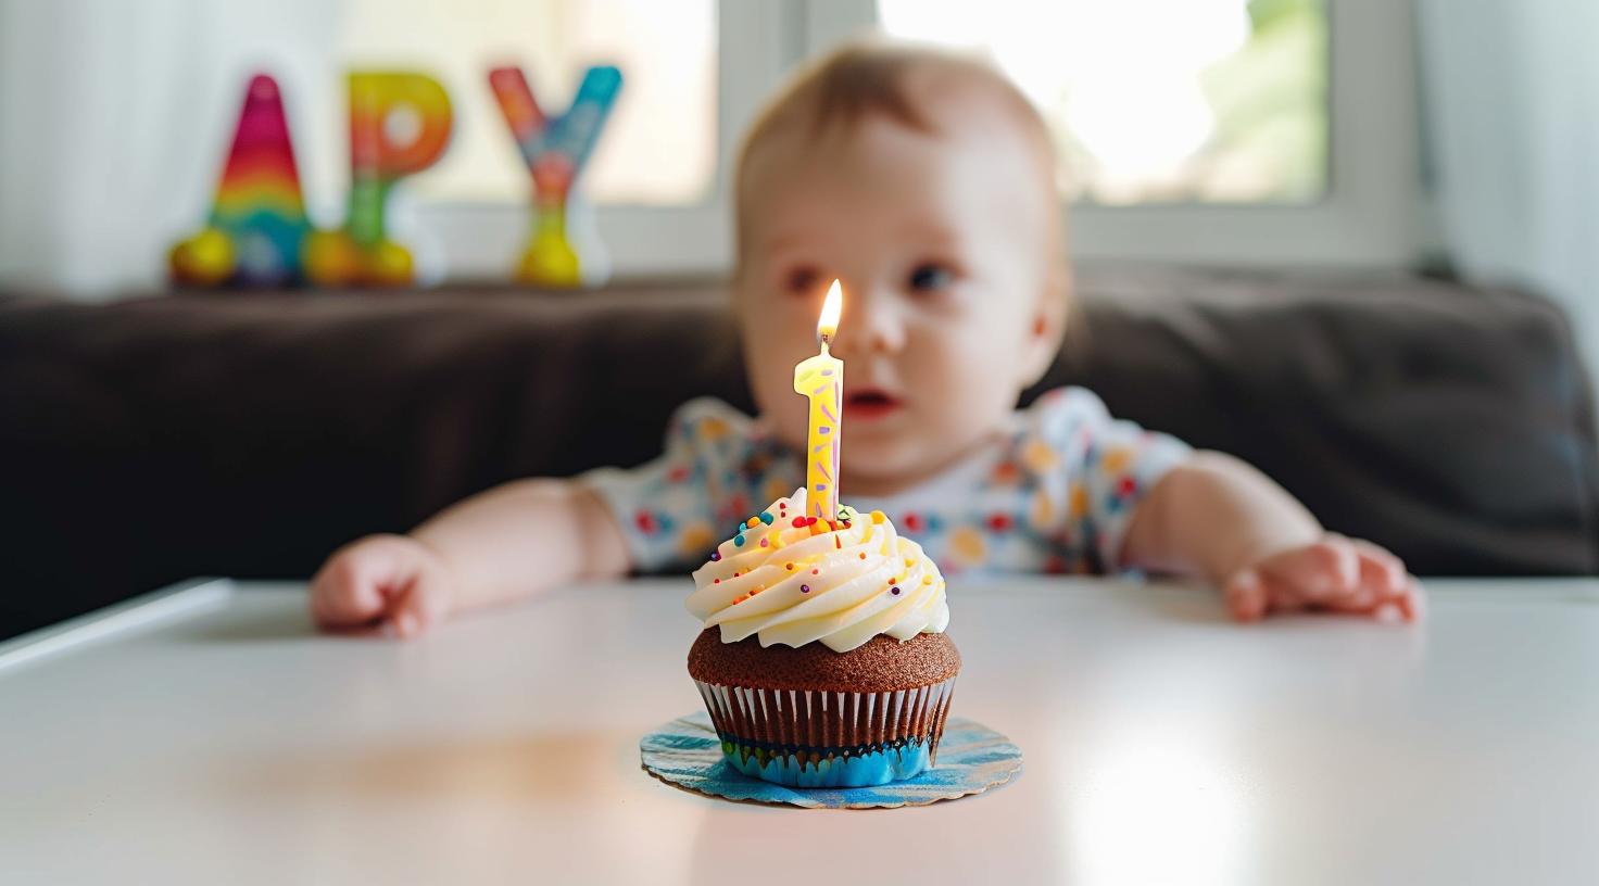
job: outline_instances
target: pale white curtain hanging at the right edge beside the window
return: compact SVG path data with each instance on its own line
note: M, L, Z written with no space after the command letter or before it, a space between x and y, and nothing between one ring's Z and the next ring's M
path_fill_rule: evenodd
M1599 373L1599 2L1418 0L1444 237L1471 278L1553 296Z

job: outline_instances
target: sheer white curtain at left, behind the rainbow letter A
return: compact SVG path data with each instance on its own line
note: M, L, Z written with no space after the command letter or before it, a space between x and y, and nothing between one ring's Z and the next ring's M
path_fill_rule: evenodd
M88 299L158 286L206 216L251 74L277 75L297 139L344 131L339 10L0 0L0 280ZM307 198L337 190L315 182L341 170L299 162Z

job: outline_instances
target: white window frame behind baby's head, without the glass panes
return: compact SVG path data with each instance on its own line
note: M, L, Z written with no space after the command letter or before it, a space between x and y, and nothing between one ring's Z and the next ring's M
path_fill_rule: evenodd
M732 267L729 173L739 138L804 58L878 24L875 0L720 0L716 170L689 206L577 206L592 214L612 277L721 275ZM1201 265L1402 267L1425 246L1407 3L1327 0L1329 178L1313 203L1070 206L1083 261ZM1063 206L1063 211L1067 208ZM457 278L504 278L528 235L524 202L419 202Z

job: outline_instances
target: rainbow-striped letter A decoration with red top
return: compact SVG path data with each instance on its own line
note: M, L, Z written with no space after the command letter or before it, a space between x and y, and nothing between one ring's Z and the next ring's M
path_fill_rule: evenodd
M296 283L301 243L309 232L283 98L272 77L257 74L245 90L233 147L222 165L206 225L168 254L173 281L193 286Z

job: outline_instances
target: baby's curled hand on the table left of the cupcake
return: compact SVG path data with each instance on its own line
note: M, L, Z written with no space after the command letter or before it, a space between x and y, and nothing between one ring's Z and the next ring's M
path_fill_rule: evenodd
M393 625L414 637L449 611L445 561L408 536L368 536L328 558L310 581L310 613L331 629Z

